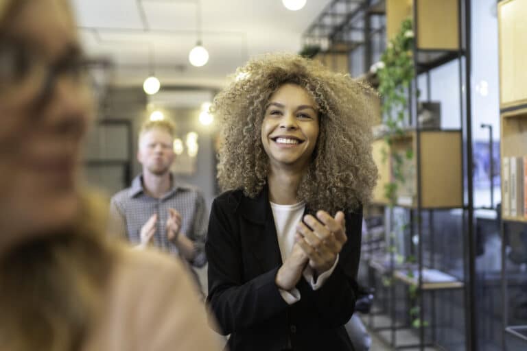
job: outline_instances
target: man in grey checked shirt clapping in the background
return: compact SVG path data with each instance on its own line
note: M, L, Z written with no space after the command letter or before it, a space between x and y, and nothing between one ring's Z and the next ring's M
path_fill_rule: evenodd
M200 288L191 267L207 263L207 212L202 193L194 186L176 182L170 171L176 158L174 133L174 123L168 119L143 123L137 147L143 171L132 186L112 197L110 223L113 232L138 248L152 245L181 258Z

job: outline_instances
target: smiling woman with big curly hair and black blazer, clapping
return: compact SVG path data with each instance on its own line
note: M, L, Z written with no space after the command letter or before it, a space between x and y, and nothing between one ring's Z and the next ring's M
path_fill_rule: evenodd
M377 178L370 90L298 56L237 71L222 121L209 296L231 350L353 350L362 205Z

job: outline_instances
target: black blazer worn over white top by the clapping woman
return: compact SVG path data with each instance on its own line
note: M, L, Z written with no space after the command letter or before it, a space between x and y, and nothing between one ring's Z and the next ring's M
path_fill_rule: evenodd
M274 278L282 264L268 189L255 199L242 191L217 197L211 208L205 252L207 301L228 346L238 350L353 350L343 327L355 308L362 208L346 214L347 243L336 269L313 291L301 278L301 300L288 305Z

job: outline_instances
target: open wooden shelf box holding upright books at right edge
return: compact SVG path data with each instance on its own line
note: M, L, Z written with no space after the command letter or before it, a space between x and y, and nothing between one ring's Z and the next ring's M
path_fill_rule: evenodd
M527 108L502 113L502 218L527 222Z

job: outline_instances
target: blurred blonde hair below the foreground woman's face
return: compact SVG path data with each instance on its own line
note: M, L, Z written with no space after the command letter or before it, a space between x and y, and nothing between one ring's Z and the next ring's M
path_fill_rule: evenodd
M83 196L68 228L0 257L0 340L13 351L79 350L99 316L117 247L104 236L106 206Z

